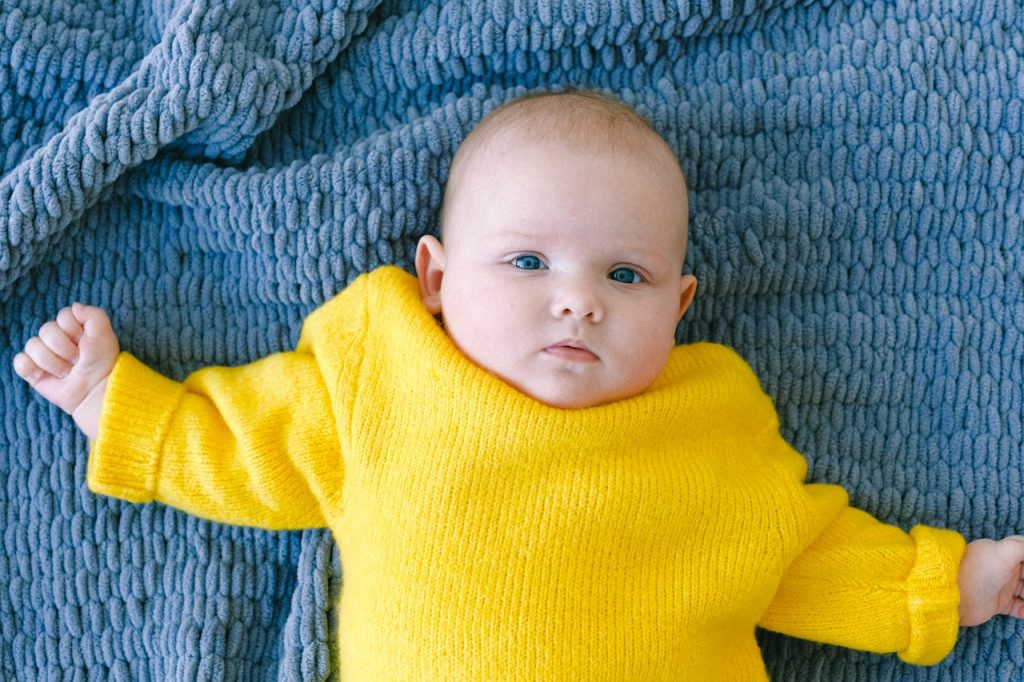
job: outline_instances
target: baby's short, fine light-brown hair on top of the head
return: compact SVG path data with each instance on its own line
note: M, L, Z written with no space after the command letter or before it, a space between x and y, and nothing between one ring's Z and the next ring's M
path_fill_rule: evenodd
M469 159L498 134L507 131L532 141L568 141L582 147L600 145L624 154L649 153L650 145L654 144L663 147L679 167L675 154L654 127L620 99L594 90L527 93L487 114L459 145L452 159L441 203L442 230L446 209L464 169L469 166ZM682 168L679 171L682 175Z

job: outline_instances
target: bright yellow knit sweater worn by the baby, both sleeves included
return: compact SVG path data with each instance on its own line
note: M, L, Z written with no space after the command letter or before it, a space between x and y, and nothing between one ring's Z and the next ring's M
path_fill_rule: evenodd
M764 679L756 625L944 656L964 541L805 484L750 368L680 346L564 411L463 356L384 267L294 352L172 382L122 354L88 479L266 528L328 526L347 680Z

